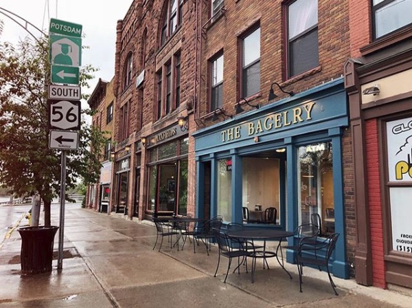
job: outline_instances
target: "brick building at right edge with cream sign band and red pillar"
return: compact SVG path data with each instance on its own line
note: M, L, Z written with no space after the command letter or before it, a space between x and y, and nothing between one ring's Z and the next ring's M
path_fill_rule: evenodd
M412 287L412 1L349 1L356 281ZM408 13L407 13L408 12Z

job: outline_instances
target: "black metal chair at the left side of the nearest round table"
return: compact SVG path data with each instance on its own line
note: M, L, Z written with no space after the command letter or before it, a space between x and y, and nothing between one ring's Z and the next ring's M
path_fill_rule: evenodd
M238 274L240 274L240 265L243 263L244 259L247 258L247 256L251 255L251 253L244 248L242 241L238 241L236 245L233 245L236 242L236 239L229 239L226 233L220 232L220 230L218 229L214 229L214 238L216 239L219 247L218 265L216 266L214 277L216 277L216 274L218 274L220 256L225 256L229 259L225 281L223 281L224 283L226 283L232 259L238 258L238 267L236 267L235 271L238 270ZM240 261L240 257L242 257L242 261Z

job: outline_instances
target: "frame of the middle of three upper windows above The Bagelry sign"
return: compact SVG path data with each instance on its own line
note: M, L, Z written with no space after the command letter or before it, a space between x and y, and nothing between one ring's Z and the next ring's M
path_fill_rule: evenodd
M261 87L260 87L260 66L259 66L259 89L258 91L255 91L255 93L253 94L247 94L247 74L245 74L245 72L247 71L247 69L250 69L251 67L255 66L255 65L260 65L260 59L262 58L262 53L260 51L259 54L259 58L255 59L254 61L252 61L251 63L248 63L247 65L244 65L244 41L245 39L247 39L249 36L251 36L251 34L254 34L255 31L259 30L259 50L260 50L260 45L261 45L261 27L260 27L260 22L256 23L255 25L253 25L251 28L249 28L249 30L247 30L246 32L244 32L244 34L242 34L242 36L240 36L239 39L239 58L240 58L240 63L239 63L239 67L240 67L240 90L239 90L239 94L240 97L242 98L247 98L250 96L253 96L255 94L258 94L261 91Z

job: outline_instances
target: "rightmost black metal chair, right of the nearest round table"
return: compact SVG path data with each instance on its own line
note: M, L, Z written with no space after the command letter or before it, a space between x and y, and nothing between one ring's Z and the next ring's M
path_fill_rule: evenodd
M296 259L297 271L299 272L300 292L302 292L302 268L304 267L304 265L314 265L319 267L319 269L321 267L326 267L330 285L332 285L334 294L336 296L339 295L338 292L336 292L336 285L334 284L329 271L330 256L332 256L332 252L336 246L336 241L338 241L338 238L339 233L334 233L319 243L314 244L302 242L299 245L299 250L297 251Z

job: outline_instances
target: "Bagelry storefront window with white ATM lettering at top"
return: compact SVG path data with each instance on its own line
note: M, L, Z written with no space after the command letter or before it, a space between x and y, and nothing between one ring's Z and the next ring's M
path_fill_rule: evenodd
M334 232L332 143L298 148L299 224L314 223L321 236Z

